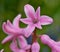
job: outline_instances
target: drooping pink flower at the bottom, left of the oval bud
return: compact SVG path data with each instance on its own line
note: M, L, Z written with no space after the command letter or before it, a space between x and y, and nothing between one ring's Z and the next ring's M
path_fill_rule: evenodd
M19 36L18 42L16 41L16 39L13 39L12 43L10 44L10 48L13 52L27 52L30 47L31 46L27 44L27 41L23 36Z

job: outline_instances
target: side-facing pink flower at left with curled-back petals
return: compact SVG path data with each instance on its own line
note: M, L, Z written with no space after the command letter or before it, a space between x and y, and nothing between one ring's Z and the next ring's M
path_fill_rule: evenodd
M8 34L8 36L2 41L2 44L6 43L7 41L12 40L13 38L16 38L20 35L29 37L31 35L33 26L27 26L26 28L20 28L19 27L19 21L20 21L21 15L18 15L14 21L13 24L7 20L7 22L4 22L2 25L3 31ZM31 29L32 28L32 29ZM29 30L31 29L31 30Z

